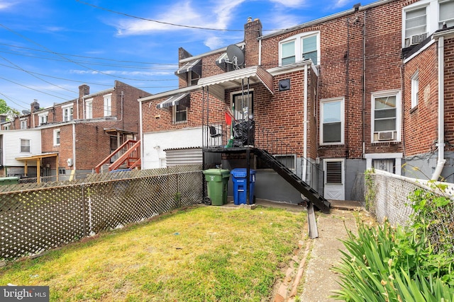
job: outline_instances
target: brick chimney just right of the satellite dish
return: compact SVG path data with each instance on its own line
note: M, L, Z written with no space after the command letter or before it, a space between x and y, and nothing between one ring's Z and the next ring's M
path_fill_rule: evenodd
M262 36L262 23L252 17L244 25L245 66L258 65L258 37Z

